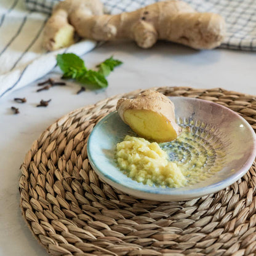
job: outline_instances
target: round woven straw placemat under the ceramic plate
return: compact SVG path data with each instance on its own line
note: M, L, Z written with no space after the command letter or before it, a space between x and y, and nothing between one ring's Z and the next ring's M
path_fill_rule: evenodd
M256 129L256 97L223 89L158 87L165 95L227 106ZM255 255L255 162L238 182L186 202L136 199L90 167L87 139L121 97L66 114L45 130L22 164L22 214L52 255ZM242 146L242 145L241 145Z

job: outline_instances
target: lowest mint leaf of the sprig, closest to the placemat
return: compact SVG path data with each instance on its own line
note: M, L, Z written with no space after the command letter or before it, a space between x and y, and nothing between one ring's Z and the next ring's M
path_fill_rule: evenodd
M82 84L90 84L94 86L98 86L100 88L105 88L108 86L108 81L106 81L105 76L103 74L98 73L94 70L88 70L84 76L81 76L77 79Z

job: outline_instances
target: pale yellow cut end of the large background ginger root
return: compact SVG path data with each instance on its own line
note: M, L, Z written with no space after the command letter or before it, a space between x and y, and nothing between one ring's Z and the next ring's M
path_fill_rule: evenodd
M74 28L71 25L66 25L61 28L54 38L54 50L74 44Z

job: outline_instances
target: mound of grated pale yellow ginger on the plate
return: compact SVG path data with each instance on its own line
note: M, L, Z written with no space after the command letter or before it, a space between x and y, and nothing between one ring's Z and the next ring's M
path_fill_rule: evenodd
M118 164L126 175L146 185L180 187L186 178L177 164L168 161L158 143L126 135L116 146Z

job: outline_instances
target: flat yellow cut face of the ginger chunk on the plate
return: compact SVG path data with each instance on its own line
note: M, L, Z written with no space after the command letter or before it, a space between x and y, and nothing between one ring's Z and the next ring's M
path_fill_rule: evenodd
M172 123L162 114L151 110L126 110L124 121L140 137L156 142L170 142L178 137Z

